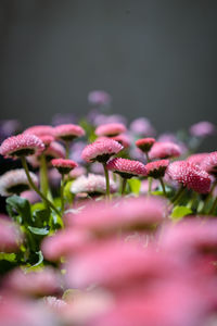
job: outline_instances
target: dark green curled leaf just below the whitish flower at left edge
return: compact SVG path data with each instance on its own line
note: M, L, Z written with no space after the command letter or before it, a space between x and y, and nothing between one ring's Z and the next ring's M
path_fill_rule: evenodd
M31 223L30 204L25 198L15 195L7 198L7 211L11 217L15 216L15 211L23 222Z

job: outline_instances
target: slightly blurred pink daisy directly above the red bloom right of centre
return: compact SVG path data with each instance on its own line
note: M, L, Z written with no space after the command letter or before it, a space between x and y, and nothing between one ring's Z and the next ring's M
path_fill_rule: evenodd
M155 142L149 153L151 160L170 159L181 155L181 149L174 142Z

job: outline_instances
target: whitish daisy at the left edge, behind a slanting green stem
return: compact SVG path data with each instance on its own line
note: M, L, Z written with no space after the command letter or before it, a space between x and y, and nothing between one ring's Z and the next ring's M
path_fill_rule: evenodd
M30 172L34 184L38 185L38 177ZM23 168L11 170L0 176L0 195L8 197L13 193L20 195L22 191L29 189L29 183Z

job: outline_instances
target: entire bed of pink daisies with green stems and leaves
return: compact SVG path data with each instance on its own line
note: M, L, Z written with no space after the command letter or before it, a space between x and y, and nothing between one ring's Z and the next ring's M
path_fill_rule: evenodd
M216 127L157 135L88 101L2 133L0 325L216 325L217 152L197 151Z

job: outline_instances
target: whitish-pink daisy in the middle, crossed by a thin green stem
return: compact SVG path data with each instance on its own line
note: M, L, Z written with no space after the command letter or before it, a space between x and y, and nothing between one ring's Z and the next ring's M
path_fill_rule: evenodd
M110 179L110 191L111 193L117 190L116 184ZM77 178L72 187L71 192L73 193L80 193L85 192L88 195L101 195L106 192L106 184L104 176L89 174L88 176L80 176Z

